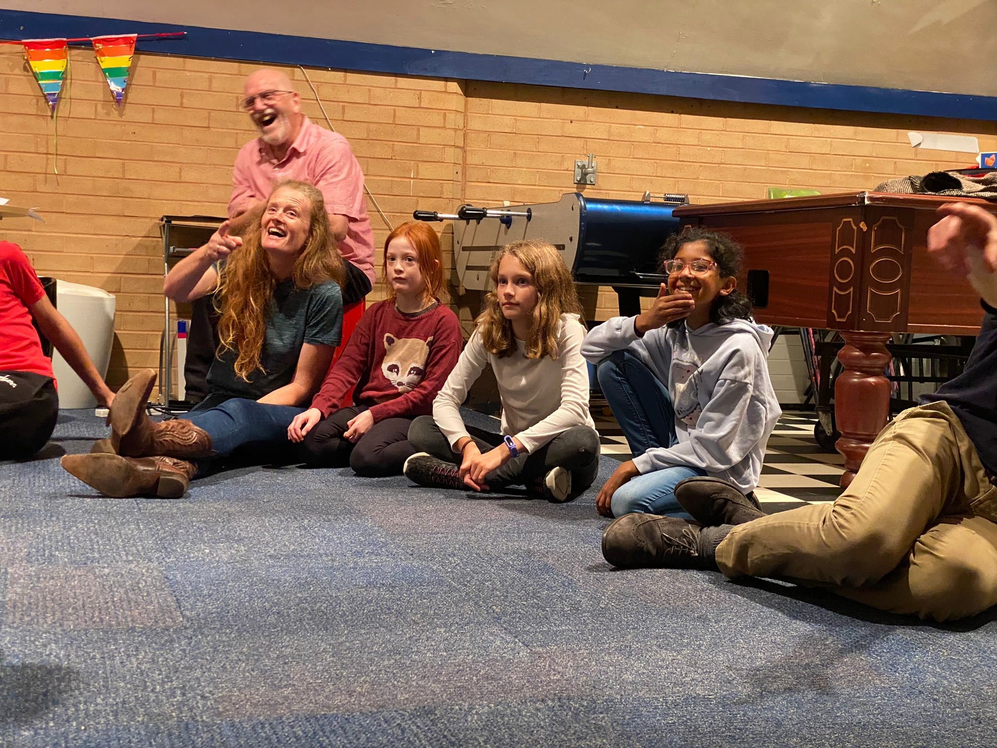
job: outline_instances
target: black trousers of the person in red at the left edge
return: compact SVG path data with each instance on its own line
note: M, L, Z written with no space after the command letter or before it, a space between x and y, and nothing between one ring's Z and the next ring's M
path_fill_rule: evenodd
M52 377L0 371L0 460L23 460L49 441L59 418Z

